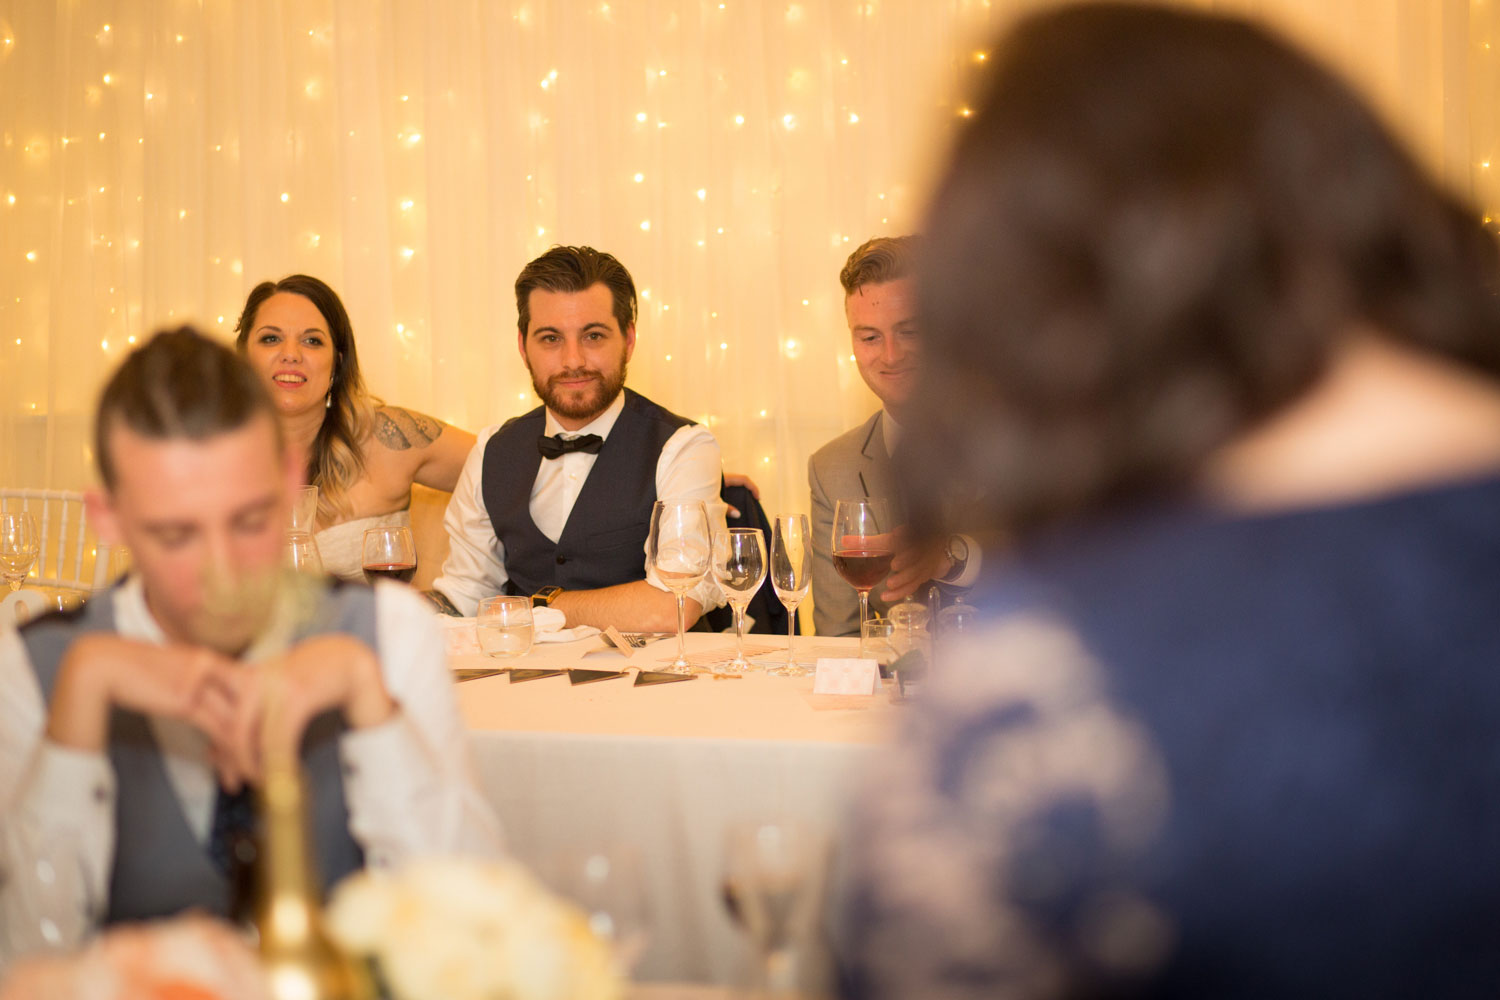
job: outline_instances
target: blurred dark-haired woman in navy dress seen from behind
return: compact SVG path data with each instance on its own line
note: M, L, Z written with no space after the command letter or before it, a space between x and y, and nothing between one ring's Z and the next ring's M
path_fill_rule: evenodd
M906 454L1006 556L854 826L849 993L1494 993L1476 214L1238 19L1066 6L990 72Z

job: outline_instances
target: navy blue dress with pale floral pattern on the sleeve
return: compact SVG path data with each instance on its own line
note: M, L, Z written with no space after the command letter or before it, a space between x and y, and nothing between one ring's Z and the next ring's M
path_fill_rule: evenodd
M866 793L858 997L1500 994L1500 480L992 579Z

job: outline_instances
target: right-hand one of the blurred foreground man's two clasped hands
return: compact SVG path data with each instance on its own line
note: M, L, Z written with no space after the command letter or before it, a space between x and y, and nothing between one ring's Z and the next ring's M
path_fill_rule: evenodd
M351 636L316 636L280 660L237 672L228 774L260 781L266 757L296 757L302 733L336 709L351 729L380 726L396 712L375 652ZM232 792L238 784L228 784Z

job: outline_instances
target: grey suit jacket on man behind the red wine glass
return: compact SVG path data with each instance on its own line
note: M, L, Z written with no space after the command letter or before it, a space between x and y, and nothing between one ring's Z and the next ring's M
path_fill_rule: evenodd
M885 451L885 411L842 433L807 460L807 486L813 493L813 624L819 636L860 634L860 594L834 570L834 502L880 496L900 519L900 498ZM870 613L885 615L879 598L882 580L870 591Z

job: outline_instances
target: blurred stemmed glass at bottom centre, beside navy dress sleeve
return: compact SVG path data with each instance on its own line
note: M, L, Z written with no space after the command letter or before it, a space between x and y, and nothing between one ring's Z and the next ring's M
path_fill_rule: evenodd
M790 996L795 987L792 957L816 897L819 844L790 819L734 823L724 841L724 907L750 934L771 996Z

